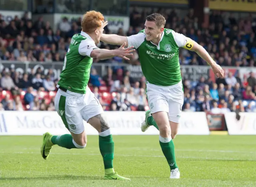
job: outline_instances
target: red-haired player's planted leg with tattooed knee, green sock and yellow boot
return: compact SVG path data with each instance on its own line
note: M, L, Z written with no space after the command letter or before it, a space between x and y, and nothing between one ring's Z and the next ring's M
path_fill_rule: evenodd
M99 147L100 153L103 157L105 176L104 179L116 179L116 180L130 180L128 178L118 175L114 171L113 159L114 159L114 142L112 134L110 133L110 127L101 116L98 114L88 120L88 123L92 125L99 133Z

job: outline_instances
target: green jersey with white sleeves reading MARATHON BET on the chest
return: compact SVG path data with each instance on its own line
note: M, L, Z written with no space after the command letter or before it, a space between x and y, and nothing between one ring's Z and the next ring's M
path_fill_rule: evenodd
M182 80L179 63L179 47L186 45L186 37L170 29L164 29L158 45L146 40L144 30L127 37L128 47L138 49L142 73L154 85L171 86Z

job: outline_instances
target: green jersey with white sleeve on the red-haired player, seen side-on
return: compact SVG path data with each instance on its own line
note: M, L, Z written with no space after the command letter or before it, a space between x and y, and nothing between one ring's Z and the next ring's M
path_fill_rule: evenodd
M57 87L85 94L92 66L90 54L96 48L98 47L87 33L81 31L75 34L66 53Z

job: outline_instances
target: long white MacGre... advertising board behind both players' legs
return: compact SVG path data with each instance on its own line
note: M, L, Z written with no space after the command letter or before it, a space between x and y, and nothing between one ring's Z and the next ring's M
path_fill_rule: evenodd
M150 126L141 132L140 125L145 112L105 112L113 135L158 135L159 131ZM86 134L98 132L84 122ZM60 116L54 111L3 111L0 112L0 135L42 135L50 132L54 135L69 133ZM209 128L204 112L183 112L178 134L208 135Z

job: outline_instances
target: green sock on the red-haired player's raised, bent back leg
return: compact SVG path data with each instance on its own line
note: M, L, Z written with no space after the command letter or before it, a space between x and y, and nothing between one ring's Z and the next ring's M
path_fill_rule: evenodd
M53 144L57 144L58 146L60 146L62 148L77 149L73 143L73 138L72 138L71 134L63 134L61 136L52 136L51 141Z

